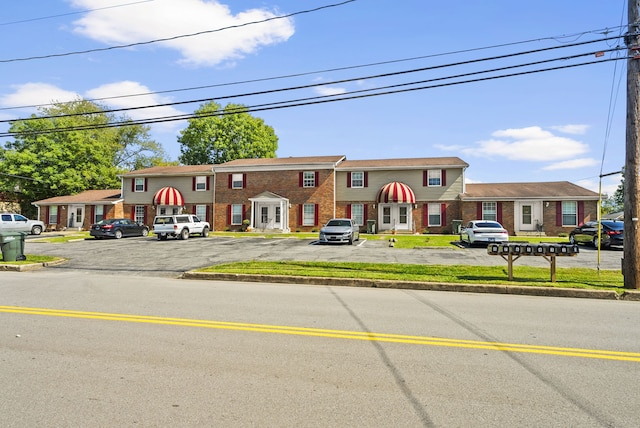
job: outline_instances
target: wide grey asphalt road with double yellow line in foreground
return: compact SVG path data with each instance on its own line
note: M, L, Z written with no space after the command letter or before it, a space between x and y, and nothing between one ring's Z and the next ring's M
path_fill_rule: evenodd
M61 248L100 249L101 266L102 254L138 241L156 246ZM193 252L196 265L218 260L197 254L207 245L225 244L157 247ZM637 302L184 281L79 265L0 272L3 427L638 424Z

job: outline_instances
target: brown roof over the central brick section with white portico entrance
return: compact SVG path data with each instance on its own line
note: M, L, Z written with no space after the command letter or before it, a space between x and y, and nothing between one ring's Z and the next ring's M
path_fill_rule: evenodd
M272 171L291 170L302 168L333 169L345 156L304 156L288 158L259 158L259 159L236 159L218 165L213 165L214 172L231 171Z

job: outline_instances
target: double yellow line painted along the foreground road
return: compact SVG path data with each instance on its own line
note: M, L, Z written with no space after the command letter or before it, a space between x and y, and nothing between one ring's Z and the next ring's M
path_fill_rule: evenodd
M447 339L428 336L371 333L348 330L329 330L307 327L288 327L268 324L249 324L225 321L208 321L188 318L154 317L146 315L112 314L104 312L70 311L63 309L27 308L0 306L0 312L44 315L51 317L82 318L104 321L136 322L147 324L175 325L222 330L252 331L258 333L292 334L298 336L326 337L332 339L366 340L375 342L403 343L423 346L446 346L453 348L484 349L489 351L545 354L564 357L596 358L603 360L640 362L640 353L606 351L599 349L561 348L556 346L521 345L515 343L486 342L478 340Z

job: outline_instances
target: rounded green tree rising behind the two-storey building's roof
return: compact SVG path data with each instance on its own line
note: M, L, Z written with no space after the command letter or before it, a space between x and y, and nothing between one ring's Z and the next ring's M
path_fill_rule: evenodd
M195 111L196 118L180 131L180 162L207 165L234 159L273 158L278 137L273 128L240 104L222 109L213 101Z

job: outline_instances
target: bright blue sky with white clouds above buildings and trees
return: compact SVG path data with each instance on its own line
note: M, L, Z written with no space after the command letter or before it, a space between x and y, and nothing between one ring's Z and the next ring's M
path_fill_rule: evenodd
M624 165L624 0L5 3L0 132L78 98L134 120L213 100L273 127L277 157L457 156L467 183L594 191ZM170 160L187 124L149 125Z

